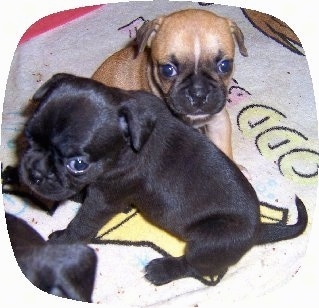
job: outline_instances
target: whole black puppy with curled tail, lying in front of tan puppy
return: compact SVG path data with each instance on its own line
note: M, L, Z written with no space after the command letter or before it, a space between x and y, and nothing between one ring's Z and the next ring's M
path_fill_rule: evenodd
M307 225L296 198L295 225L261 224L256 193L237 166L205 136L176 119L155 96L54 75L34 95L40 104L25 129L21 177L51 200L79 191L85 200L52 243L88 242L133 204L187 242L185 255L151 261L156 285L222 276L254 245L290 239Z

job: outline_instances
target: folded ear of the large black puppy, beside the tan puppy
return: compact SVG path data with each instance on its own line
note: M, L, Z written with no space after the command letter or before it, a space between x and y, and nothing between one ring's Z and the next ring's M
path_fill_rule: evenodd
M118 114L124 135L129 138L132 148L139 152L153 131L155 114L135 99L125 102Z

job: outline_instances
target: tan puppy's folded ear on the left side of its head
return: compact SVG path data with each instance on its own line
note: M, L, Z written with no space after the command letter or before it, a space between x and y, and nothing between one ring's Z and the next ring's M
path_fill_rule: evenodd
M156 31L161 23L162 18L154 19L152 21L146 21L142 25L142 27L138 29L136 33L138 53L143 52L146 46L151 46L152 39L154 38Z

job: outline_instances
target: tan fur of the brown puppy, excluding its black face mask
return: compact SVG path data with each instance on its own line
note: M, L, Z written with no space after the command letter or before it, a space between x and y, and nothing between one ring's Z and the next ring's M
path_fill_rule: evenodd
M172 54L179 61L193 63L213 59L222 52L234 58L235 42L247 56L244 37L237 25L206 10L184 10L146 22L137 32L137 46L124 48L106 59L92 78L109 86L126 90L143 89L161 97L172 84L162 80L158 64L170 61ZM231 76L223 79L228 86ZM194 116L196 117L196 116ZM231 122L224 108L203 122L207 136L231 159Z

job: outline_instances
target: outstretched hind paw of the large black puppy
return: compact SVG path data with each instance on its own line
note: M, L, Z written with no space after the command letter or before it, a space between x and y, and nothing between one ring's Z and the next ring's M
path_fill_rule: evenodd
M183 257L154 259L145 267L145 271L145 278L157 286L191 276L188 264Z

